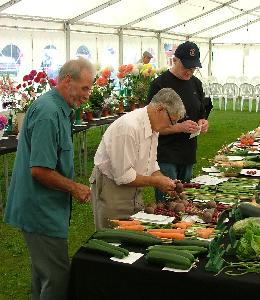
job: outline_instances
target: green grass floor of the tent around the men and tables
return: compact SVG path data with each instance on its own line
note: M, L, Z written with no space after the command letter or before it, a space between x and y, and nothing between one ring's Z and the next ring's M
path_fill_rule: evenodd
M209 159L223 145L234 141L242 132L260 125L260 114L248 111L213 110L209 117L209 131L198 139L197 164L194 175L201 167L209 165ZM93 168L93 156L101 138L101 130L88 131L88 176ZM1 158L0 158L1 159ZM14 154L8 155L9 174L11 175ZM1 166L2 166L2 159ZM77 160L75 159L77 169ZM1 168L3 170L3 167ZM77 180L87 183L87 179L77 176ZM3 176L0 178L1 190L4 190ZM4 195L5 197L5 195ZM146 202L154 200L153 189L144 190ZM70 257L94 232L93 216L90 205L73 204L72 221L69 231ZM30 299L30 261L28 251L20 232L0 220L0 300Z

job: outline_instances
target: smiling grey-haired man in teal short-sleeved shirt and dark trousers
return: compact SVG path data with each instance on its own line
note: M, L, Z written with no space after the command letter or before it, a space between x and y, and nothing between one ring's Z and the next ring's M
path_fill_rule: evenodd
M70 116L87 101L94 71L70 60L57 87L28 109L19 136L5 221L22 230L32 260L32 299L65 300L69 278L70 199L89 200L89 187L73 178Z

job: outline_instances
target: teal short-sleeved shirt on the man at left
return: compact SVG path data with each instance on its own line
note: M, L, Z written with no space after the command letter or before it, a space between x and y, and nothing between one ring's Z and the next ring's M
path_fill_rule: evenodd
M28 109L19 135L5 210L5 222L26 232L67 238L70 194L50 189L31 175L32 167L73 177L71 108L56 89Z

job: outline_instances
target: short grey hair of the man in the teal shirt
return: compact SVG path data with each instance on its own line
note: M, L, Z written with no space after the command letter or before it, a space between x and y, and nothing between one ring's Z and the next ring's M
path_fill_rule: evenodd
M71 75L72 79L78 80L83 70L89 71L94 79L95 69L91 62L83 57L79 57L78 59L71 59L60 68L58 80L62 81L68 74Z

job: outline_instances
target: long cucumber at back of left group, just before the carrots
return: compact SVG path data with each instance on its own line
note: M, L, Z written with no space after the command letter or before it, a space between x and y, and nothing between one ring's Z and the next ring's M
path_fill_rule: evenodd
M161 244L161 239L145 232L135 232L130 230L106 229L94 233L93 238L105 240L107 242L120 242L132 245L151 246Z

